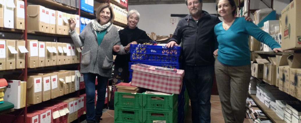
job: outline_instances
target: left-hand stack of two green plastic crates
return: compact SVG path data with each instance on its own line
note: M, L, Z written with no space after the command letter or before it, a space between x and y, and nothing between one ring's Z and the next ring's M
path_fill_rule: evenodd
M142 123L142 94L115 92L114 123Z

